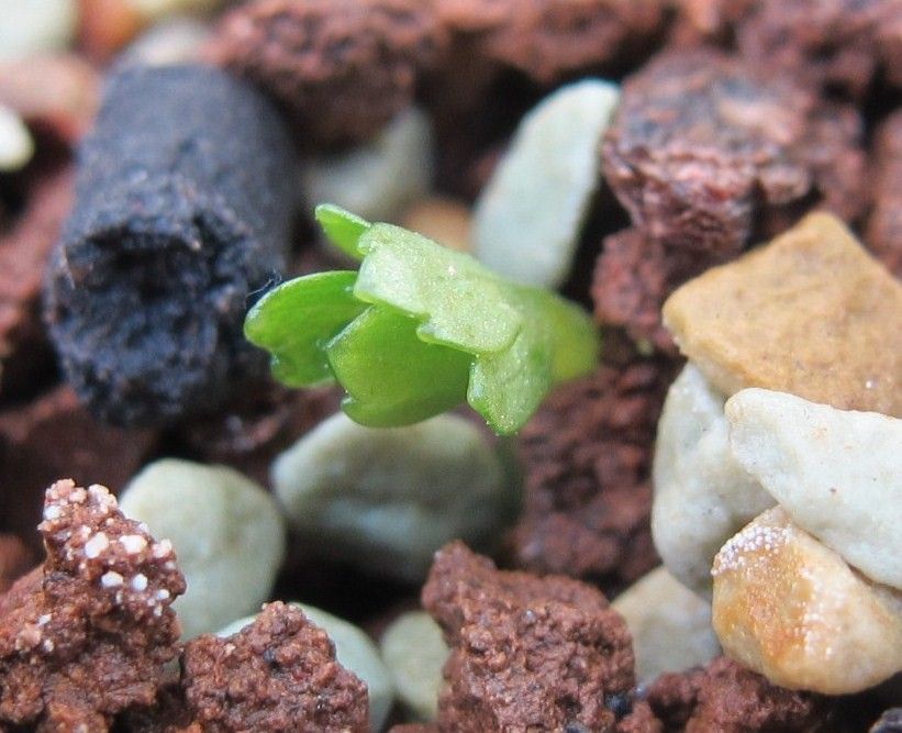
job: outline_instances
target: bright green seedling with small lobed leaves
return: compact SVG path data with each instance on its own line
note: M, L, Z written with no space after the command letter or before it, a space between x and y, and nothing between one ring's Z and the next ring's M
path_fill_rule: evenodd
M599 335L553 292L509 282L472 257L333 206L316 220L358 271L285 282L247 314L247 338L293 387L337 380L371 426L424 420L465 400L501 435L556 384L590 371Z

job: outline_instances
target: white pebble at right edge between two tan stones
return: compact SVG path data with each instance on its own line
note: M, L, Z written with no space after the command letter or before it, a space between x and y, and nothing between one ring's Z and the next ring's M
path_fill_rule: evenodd
M902 589L902 420L767 389L726 403L733 455L799 526Z

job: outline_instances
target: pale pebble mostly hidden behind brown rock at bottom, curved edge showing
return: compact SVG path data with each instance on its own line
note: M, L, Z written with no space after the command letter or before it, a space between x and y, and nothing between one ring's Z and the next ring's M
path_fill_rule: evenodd
M380 731L394 702L396 690L391 671L379 656L376 644L361 629L344 619L307 603L291 601L291 606L301 609L308 619L328 634L335 644L335 658L338 664L366 682L369 700L369 728L374 732ZM256 618L255 614L233 621L220 629L216 636L236 634L247 624L253 623Z

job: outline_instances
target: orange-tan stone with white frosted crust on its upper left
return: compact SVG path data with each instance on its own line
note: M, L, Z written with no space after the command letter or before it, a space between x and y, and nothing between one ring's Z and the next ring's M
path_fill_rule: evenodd
M714 558L727 656L790 689L858 692L902 670L902 593L868 580L776 507Z

